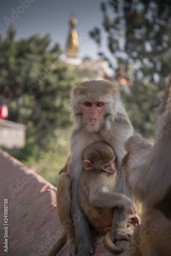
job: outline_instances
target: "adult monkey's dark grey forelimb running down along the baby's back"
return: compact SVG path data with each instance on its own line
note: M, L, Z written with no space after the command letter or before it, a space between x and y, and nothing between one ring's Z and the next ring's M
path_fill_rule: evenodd
M74 179L72 181L71 187L71 215L74 222L75 233L76 233L76 246L77 246L77 256L89 256L94 254L89 223L84 215L81 207L78 204L78 180Z

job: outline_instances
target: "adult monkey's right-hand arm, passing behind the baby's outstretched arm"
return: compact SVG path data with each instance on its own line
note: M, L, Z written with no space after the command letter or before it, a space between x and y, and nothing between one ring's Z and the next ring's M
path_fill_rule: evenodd
M127 197L133 199L130 190L126 187L126 177L121 172L121 160L126 154L126 151L124 149L124 142L133 134L133 127L127 117L126 119L123 119L122 116L120 116L120 118L122 120L120 120L119 122L116 121L114 123L111 141L108 142L112 146L117 159L118 179L114 191L116 193L122 193ZM115 242L116 240L130 239L131 234L130 231L127 229L127 220L128 215L126 208L119 208L118 206L114 207L114 218L112 221L111 232L111 238L113 242Z

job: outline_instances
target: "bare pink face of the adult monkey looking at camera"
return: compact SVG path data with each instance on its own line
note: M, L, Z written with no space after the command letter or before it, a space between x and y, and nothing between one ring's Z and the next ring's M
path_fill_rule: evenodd
M99 128L102 113L106 109L108 103L102 101L83 101L81 102L81 108L83 109L86 117L86 124L91 130Z

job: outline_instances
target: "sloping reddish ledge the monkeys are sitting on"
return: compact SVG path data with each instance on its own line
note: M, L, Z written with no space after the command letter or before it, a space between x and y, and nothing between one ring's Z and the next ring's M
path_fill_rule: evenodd
M0 255L45 256L59 236L62 226L56 205L56 187L30 168L0 150ZM8 253L4 251L4 199L8 199ZM111 256L104 248L103 236L92 230L96 253ZM117 242L124 248L120 256L130 255L129 242ZM66 245L58 256L66 255Z

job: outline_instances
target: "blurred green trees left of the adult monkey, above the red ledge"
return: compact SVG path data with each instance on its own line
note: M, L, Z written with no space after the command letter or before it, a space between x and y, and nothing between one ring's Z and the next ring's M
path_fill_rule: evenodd
M69 97L79 75L60 60L59 45L50 48L49 35L14 38L12 27L0 38L0 105L8 105L9 120L27 125L27 140L23 150L8 152L33 168L40 165L39 172L54 172L69 155L69 145L61 142L58 130L72 125ZM54 163L42 166L40 159L51 158ZM63 161L60 166L58 160Z

